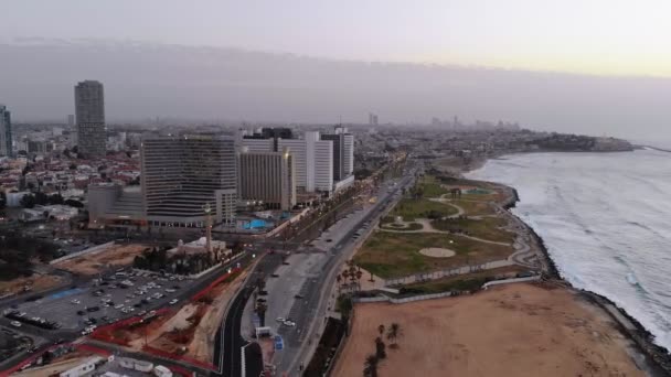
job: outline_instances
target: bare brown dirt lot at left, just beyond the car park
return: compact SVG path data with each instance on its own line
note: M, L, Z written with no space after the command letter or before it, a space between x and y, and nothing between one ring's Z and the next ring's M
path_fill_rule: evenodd
M142 254L145 245L113 245L95 254L86 254L54 265L74 273L94 276L107 268L128 266L136 256Z

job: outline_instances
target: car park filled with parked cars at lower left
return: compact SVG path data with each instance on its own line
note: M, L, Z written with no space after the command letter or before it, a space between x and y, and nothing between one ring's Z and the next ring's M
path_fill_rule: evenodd
M62 330L104 325L170 304L193 281L177 276L118 271L32 302L19 304L24 319L55 321ZM25 314L22 314L25 313Z

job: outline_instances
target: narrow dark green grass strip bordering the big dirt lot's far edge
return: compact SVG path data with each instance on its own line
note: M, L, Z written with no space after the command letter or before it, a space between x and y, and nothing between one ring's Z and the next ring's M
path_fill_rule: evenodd
M490 280L514 277L518 272L526 271L521 266L507 266L492 270L469 273L468 276L456 276L432 281L413 283L401 288L401 293L430 294L447 291L472 291L479 289Z

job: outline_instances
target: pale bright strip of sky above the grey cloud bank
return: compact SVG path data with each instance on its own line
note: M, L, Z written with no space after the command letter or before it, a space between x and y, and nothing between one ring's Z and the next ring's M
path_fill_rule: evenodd
M668 0L3 0L0 35L671 77Z

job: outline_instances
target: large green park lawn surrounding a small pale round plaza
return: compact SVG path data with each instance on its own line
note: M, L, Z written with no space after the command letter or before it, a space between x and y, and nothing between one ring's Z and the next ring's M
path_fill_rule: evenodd
M454 244L450 244L450 240ZM427 247L448 248L457 255L450 258L420 255L419 250ZM484 244L457 235L377 230L356 252L354 262L381 278L388 279L503 259L512 252L510 246Z

